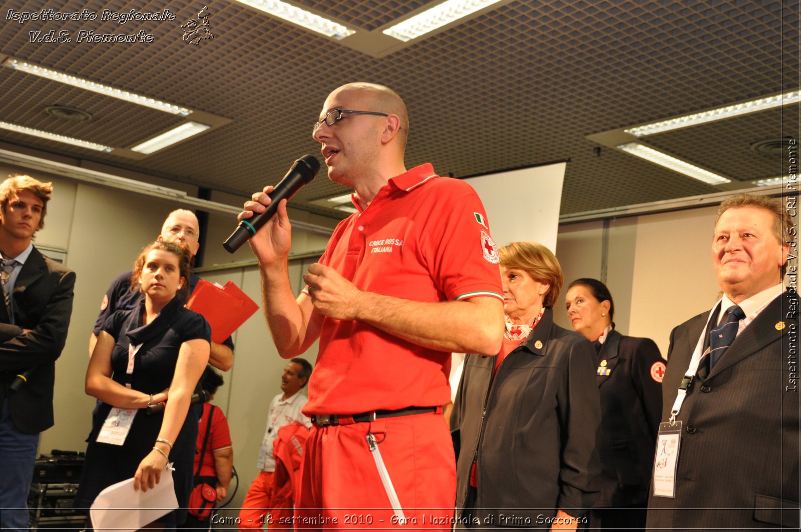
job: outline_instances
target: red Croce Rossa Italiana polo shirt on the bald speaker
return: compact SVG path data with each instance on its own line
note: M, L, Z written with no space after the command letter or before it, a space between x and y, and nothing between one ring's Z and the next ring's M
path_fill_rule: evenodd
M436 175L430 164L390 179L368 208L343 220L320 263L360 290L406 300L503 300L481 200L467 183ZM303 412L445 405L449 370L450 353L326 317Z

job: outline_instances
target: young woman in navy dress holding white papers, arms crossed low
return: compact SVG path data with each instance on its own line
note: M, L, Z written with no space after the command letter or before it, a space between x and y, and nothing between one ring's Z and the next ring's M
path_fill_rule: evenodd
M161 240L148 244L131 276L143 304L117 311L103 324L86 380L87 394L103 403L93 416L74 506L91 506L104 488L131 477L135 490L152 489L162 474L171 474L164 470L169 461L179 508L187 506L199 410L189 405L211 338L203 316L185 308L177 295L189 279L189 260L183 247ZM164 401L163 413L145 412ZM125 425L130 428L121 435ZM175 510L155 524L174 527L185 515Z

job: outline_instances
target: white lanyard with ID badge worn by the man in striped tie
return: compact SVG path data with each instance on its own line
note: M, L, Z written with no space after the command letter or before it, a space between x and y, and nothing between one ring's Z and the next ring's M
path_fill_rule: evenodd
M673 408L670 409L670 421L659 424L659 432L656 439L656 453L654 455L654 497L674 498L676 496L676 473L678 471L678 451L682 443L682 422L676 421L678 413L682 409L682 403L687 395L687 390L698 373L698 365L703 357L704 337L706 329L712 316L716 316L720 301L712 307L709 317L706 319L706 326L701 330L701 337L695 345L690 365L687 367L678 386L676 400Z

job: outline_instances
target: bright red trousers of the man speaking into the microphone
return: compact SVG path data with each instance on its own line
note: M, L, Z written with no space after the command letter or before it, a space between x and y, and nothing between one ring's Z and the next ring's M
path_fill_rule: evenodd
M377 442L400 512L390 504L369 434ZM441 413L312 426L305 451L300 504L293 517L296 529L450 530L456 462Z

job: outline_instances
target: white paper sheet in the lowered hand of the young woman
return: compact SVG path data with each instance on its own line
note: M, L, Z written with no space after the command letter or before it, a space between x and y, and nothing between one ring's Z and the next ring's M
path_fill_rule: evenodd
M172 471L161 474L161 482L152 490L134 491L129 478L108 486L95 498L89 515L95 532L139 530L149 522L178 508Z

